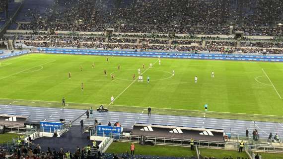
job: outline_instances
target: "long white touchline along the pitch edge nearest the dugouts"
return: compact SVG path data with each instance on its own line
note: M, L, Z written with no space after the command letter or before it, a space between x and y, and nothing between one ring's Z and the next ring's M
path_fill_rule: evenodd
M46 101L46 100L30 100L30 99L14 99L14 98L0 98L1 99L9 99L9 100L26 100L26 101L40 101L40 102L61 102L61 101ZM101 104L95 104L95 103L75 103L75 102L68 102L68 103L73 103L73 104L92 104L92 105L101 105ZM107 105L107 104L106 104ZM110 104L108 104L110 105ZM112 106L124 106L124 107L133 107L133 108L147 108L145 106L134 106L134 105L112 105ZM48 107L45 107L48 108ZM176 108L159 108L159 107L151 107L154 109L163 109L163 111L166 110L182 110L182 111L195 111L195 112L204 112L201 110L190 110L190 109L176 109ZM68 108L69 109L69 108ZM75 109L71 108L74 110L80 110L80 109ZM212 113L223 113L223 114L234 114L234 115L259 115L259 116L274 116L274 117L283 117L282 115L266 115L266 114L250 114L250 113L231 113L231 112L219 112L219 111L209 111Z

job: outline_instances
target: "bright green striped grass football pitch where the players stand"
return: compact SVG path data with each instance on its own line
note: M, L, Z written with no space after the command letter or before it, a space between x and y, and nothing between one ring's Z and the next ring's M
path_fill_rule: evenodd
M283 63L161 59L159 66L156 58L108 58L29 54L1 60L0 98L109 104L113 95L115 105L204 110L207 103L209 111L283 116ZM139 68L143 82L133 81Z

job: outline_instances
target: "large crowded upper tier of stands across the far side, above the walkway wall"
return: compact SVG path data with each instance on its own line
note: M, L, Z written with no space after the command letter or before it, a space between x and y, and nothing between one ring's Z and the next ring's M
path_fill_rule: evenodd
M233 33L279 36L282 7L282 0L24 0L16 21L28 22L21 30L227 35L232 25Z

